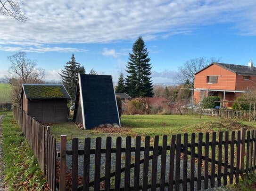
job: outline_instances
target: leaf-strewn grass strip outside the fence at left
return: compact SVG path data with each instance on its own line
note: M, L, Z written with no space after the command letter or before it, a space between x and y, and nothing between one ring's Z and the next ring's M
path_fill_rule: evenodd
M4 182L8 190L46 190L46 180L12 113L0 113L3 114L2 159Z

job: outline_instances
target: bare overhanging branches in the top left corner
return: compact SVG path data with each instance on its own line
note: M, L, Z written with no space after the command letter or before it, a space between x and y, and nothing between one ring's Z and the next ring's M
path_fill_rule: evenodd
M22 12L19 6L18 0L0 0L0 14L22 23L27 20L25 13Z

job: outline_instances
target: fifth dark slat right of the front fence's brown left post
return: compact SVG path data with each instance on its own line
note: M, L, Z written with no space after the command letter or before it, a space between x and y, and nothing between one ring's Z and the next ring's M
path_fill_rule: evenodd
M120 190L121 185L121 147L122 138L116 138L116 175L115 175L115 190Z

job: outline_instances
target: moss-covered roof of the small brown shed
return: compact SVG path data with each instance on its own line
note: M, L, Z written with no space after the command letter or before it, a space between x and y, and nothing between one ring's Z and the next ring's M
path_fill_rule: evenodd
M70 96L62 84L23 84L26 99L53 99Z

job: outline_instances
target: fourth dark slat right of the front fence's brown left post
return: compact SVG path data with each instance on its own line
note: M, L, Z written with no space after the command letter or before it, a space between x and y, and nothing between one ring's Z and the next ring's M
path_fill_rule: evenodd
M111 172L111 142L112 138L106 138L106 160L105 160L105 191L110 189L110 172Z

